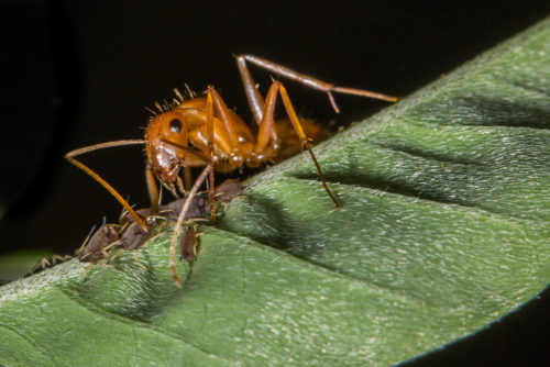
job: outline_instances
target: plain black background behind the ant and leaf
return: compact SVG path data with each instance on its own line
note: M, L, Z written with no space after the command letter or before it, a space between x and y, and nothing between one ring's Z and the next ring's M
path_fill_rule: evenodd
M407 96L550 14L546 1L3 1L0 252L73 253L120 205L63 154L141 138L155 100L172 88L211 84L250 113L232 54L250 53L341 86ZM257 73L256 73L257 71ZM267 73L253 70L261 86ZM386 103L287 84L298 111L337 124ZM131 203L147 205L140 147L82 160ZM548 357L548 291L542 300L476 337L415 362L432 365L542 365Z

